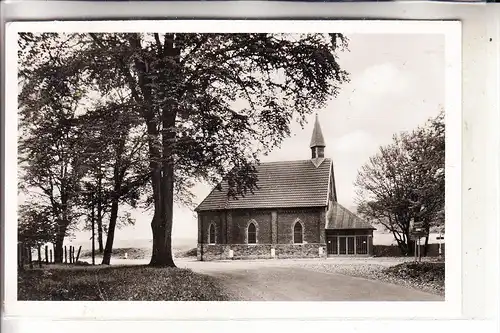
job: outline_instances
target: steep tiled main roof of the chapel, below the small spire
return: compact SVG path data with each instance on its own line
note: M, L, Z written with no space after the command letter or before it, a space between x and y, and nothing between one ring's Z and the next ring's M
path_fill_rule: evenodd
M223 183L222 190L212 190L196 211L327 206L331 168L329 158L318 167L311 160L261 163L254 194L228 199L227 184Z

